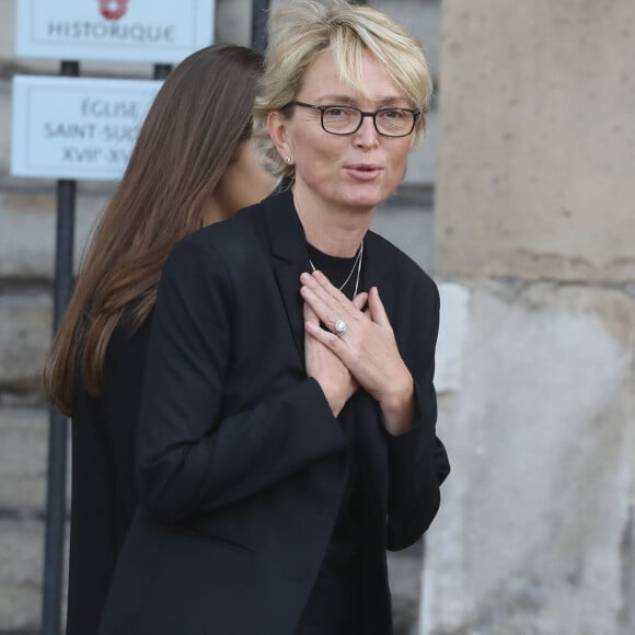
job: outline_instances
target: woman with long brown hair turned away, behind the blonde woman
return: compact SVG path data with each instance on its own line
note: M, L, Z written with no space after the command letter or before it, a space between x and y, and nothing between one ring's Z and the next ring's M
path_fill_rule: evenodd
M68 635L96 632L137 505L136 419L165 258L184 236L274 188L251 139L262 70L261 54L224 45L170 73L55 335L45 388L72 418Z

